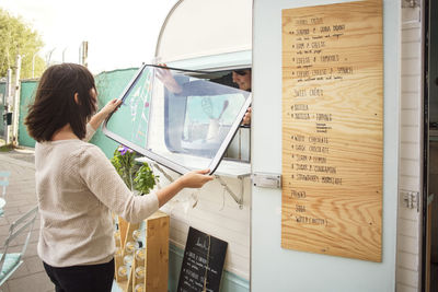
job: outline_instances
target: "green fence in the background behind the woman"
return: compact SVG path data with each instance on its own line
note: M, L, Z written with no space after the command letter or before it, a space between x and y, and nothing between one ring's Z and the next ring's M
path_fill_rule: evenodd
M99 94L99 108L108 101L119 97L137 70L137 68L131 68L97 74L95 83ZM28 136L24 119L27 115L28 105L33 102L37 85L38 82L34 80L21 82L19 144L31 148L35 147L35 140ZM90 142L99 145L107 157L112 157L114 150L117 148L117 143L104 136L101 129L96 131Z

